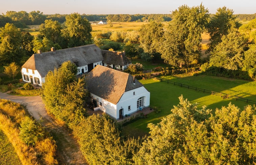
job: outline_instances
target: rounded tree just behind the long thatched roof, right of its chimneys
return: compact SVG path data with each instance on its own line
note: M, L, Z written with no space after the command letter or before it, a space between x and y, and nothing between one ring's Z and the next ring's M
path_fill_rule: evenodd
M68 47L82 46L92 43L92 27L86 18L78 13L66 16L65 28L62 30L68 40Z

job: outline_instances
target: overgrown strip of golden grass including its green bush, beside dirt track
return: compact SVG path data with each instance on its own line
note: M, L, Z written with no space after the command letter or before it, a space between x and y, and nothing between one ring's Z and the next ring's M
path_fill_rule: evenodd
M20 104L0 100L0 129L14 146L22 164L58 164L54 159L55 141Z

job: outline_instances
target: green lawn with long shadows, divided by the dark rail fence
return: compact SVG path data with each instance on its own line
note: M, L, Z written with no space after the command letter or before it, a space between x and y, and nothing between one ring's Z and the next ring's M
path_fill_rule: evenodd
M232 95L238 95L240 97L256 101L256 82L206 75L184 78L165 76L164 78L216 92L232 93ZM166 82L159 82L153 79L140 80L140 82L144 84L145 88L150 92L150 106L156 106L160 108L162 112L152 112L148 115L148 118L137 120L125 126L124 134L129 136L137 137L147 134L149 131L147 124L150 122L156 124L162 117L170 114L170 110L173 108L173 105L178 105L178 97L181 94L183 94L183 97L187 98L190 103L197 103L199 108L206 105L207 108L213 110L213 113L215 112L215 108L227 106L229 102L232 102L232 104L235 104L240 109L247 105L246 102L236 101L234 99L223 100L221 97L211 95L210 93L203 93L201 91L195 91L193 89L187 89L177 85L174 86L173 84L167 84Z

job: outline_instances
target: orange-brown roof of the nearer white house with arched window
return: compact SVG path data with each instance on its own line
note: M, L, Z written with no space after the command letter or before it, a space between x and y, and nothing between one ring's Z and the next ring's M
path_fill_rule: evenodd
M87 76L86 86L89 92L117 104L123 93L143 86L133 76L105 66L97 65Z

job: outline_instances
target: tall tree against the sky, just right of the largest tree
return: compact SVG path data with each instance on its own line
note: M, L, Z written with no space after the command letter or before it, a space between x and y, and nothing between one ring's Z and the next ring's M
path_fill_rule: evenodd
M232 28L235 28L238 25L238 22L235 21L235 16L233 15L233 10L227 8L226 6L218 8L217 12L207 25L208 33L210 34L210 43L208 44L208 51L212 51L218 43L222 40L223 35L227 35Z

